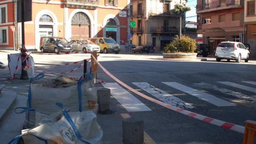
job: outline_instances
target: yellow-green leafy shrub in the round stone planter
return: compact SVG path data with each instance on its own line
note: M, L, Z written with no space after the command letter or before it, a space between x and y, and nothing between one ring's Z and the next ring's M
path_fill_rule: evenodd
M181 45L181 49L178 49L179 44ZM174 40L167 44L164 49L167 53L193 53L196 49L196 41L186 35L182 35L179 41L179 37L176 35Z

